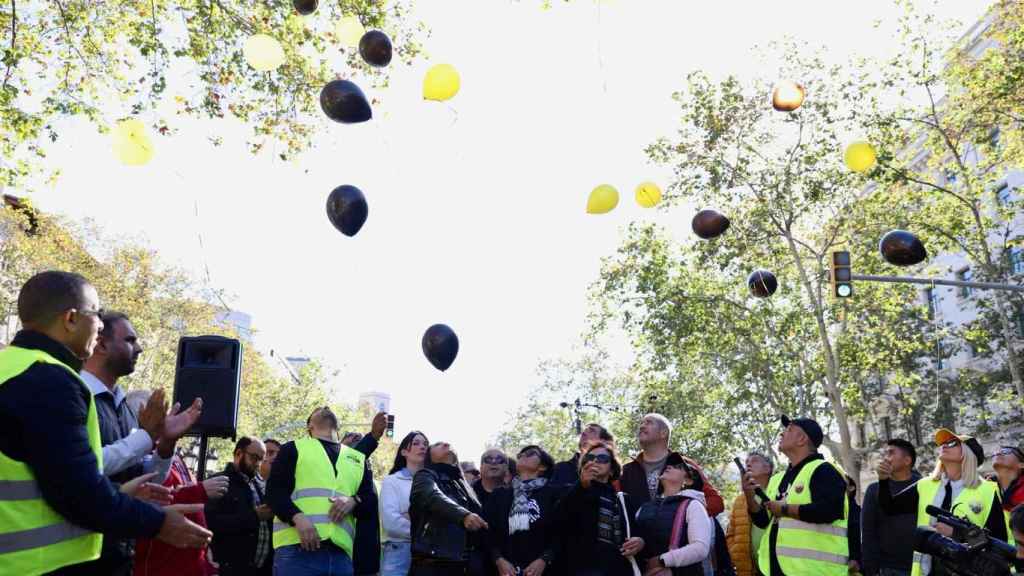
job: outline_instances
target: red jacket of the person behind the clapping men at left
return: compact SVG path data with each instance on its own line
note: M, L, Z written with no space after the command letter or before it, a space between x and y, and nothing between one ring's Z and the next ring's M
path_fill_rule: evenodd
M164 486L176 489L175 504L206 503L206 489L202 484L196 484L191 472L178 456L174 456L171 462ZM206 526L206 517L202 511L185 515L185 518ZM215 573L206 561L206 548L176 548L160 540L144 538L135 542L134 576L210 576Z

